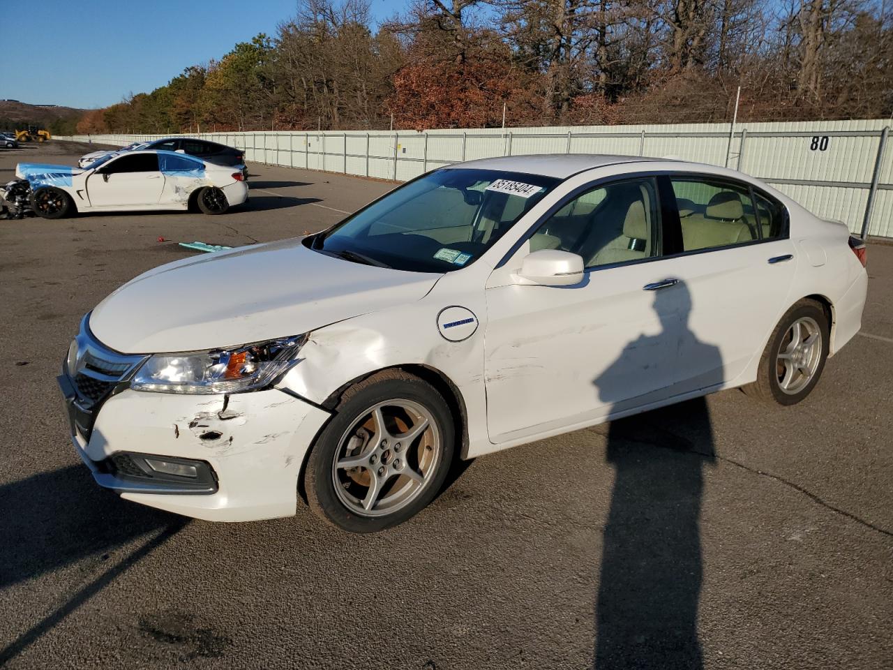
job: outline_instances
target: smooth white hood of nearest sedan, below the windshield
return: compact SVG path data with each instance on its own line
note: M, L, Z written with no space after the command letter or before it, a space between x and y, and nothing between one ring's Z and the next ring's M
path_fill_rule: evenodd
M121 353L226 348L413 302L441 276L350 263L287 239L145 272L96 306L89 325Z

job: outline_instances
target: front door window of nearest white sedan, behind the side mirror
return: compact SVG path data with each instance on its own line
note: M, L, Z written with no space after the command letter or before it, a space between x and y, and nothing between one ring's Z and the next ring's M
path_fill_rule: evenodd
M570 251L586 267L638 261L658 255L659 219L655 180L619 181L563 205L530 238L530 251Z

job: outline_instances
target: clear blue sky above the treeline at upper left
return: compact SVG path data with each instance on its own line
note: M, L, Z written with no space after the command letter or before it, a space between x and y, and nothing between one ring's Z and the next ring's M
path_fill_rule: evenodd
M406 0L371 0L376 20ZM43 0L4 5L0 98L102 107L148 92L184 68L220 58L259 32L275 34L296 0ZM11 12L12 11L12 12Z

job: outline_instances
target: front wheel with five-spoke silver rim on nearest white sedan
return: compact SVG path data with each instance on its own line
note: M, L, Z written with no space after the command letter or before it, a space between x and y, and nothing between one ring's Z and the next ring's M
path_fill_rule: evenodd
M403 523L438 494L455 453L447 402L388 370L347 389L305 468L313 512L348 532Z

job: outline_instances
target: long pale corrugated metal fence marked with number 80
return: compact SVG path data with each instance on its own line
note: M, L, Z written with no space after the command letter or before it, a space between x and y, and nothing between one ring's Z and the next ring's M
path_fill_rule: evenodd
M473 158L522 154L673 156L747 172L855 233L893 238L889 120L573 126L467 130L211 132L185 135L245 151L246 160L404 181ZM885 130L886 129L886 130ZM70 138L124 145L163 135Z

